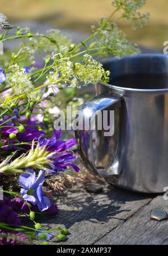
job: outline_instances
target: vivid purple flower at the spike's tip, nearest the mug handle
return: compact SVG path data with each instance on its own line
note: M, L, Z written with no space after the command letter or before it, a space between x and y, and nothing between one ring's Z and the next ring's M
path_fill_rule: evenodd
M64 171L68 166L71 166L75 171L79 171L79 167L72 164L76 160L76 156L72 152L64 152L76 145L76 139L68 139L67 141L59 141L61 136L61 130L54 130L54 136L46 139L44 136L40 136L38 139L39 147L44 147L46 151L53 153L48 157L50 160L50 169L48 172L51 174L58 174L59 171ZM62 153L62 155L60 155Z

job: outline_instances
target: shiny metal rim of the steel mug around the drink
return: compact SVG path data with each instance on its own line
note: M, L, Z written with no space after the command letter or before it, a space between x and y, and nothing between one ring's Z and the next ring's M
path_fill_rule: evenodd
M110 62L118 62L122 60L127 60L127 59L146 59L146 58L162 58L166 59L168 63L168 55L161 54L161 53L143 53L143 54L136 54L136 55L128 55L124 56L122 58L110 58L108 60L104 60L103 64L107 64ZM163 73L164 74L164 73ZM168 75L168 68L167 68L167 75ZM129 88L129 87L122 87L122 86L116 86L116 85L111 85L110 83L103 83L99 82L100 85L104 85L109 87L110 89L115 89L119 91L130 91L130 92L168 92L168 83L167 83L167 88L162 88L162 89L136 89L136 88Z

